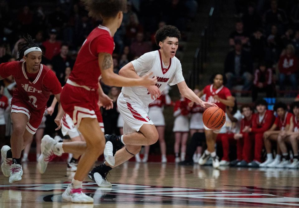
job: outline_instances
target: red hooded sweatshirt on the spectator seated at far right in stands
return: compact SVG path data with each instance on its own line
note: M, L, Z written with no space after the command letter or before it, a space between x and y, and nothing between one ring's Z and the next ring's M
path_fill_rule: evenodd
M296 56L287 57L283 55L278 61L278 70L282 74L290 75L298 71L299 61Z

